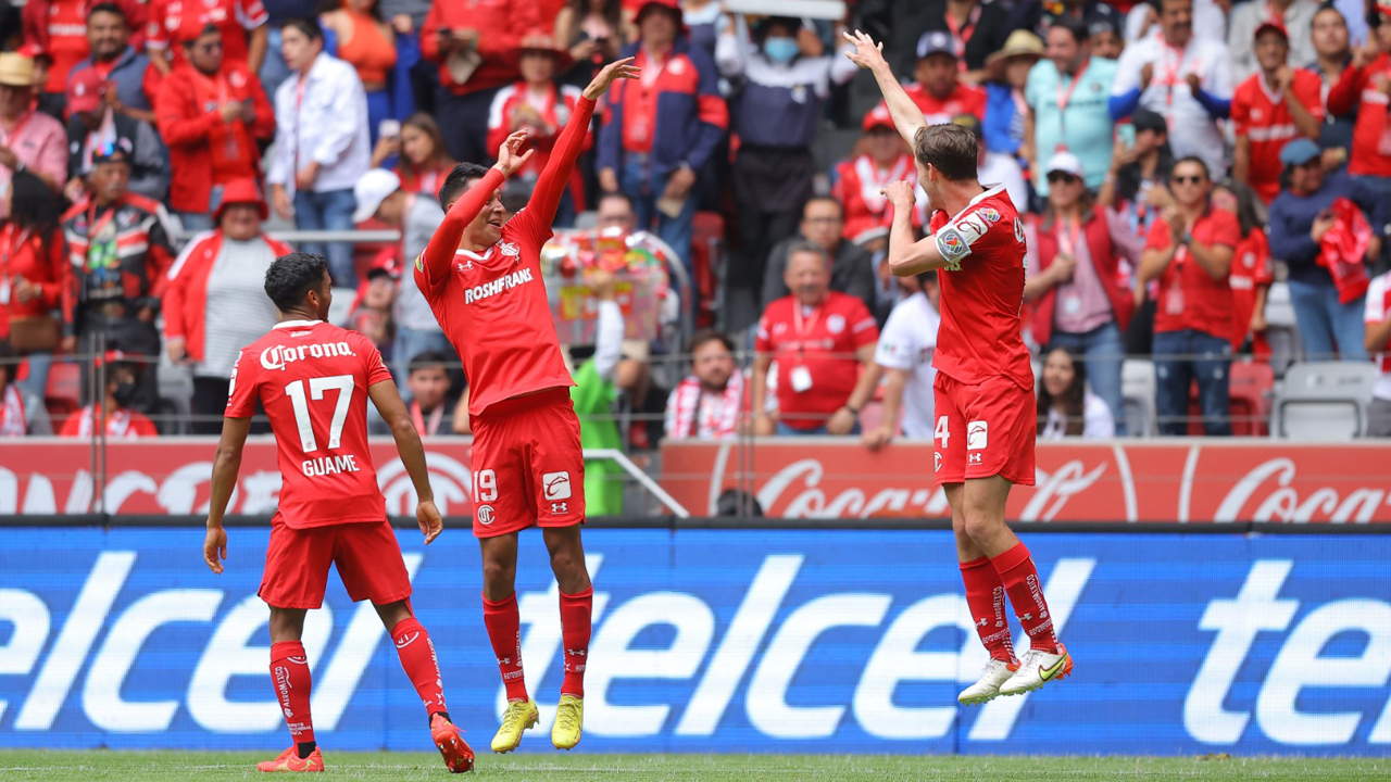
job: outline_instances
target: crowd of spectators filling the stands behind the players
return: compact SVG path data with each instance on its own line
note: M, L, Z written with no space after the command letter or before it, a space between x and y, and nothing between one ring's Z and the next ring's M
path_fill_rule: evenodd
M936 281L887 273L881 192L917 171L847 28L1028 213L1040 437L1127 434L1127 362L1152 366L1159 433L1231 434L1238 373L1288 363L1273 287L1306 359L1381 362L1369 430L1391 436L1391 4L858 0L832 24L719 0L0 0L0 437L216 433L239 348L275 320L262 280L288 246L267 221L335 232L299 249L356 291L348 321L417 429L467 433L409 274L435 193L529 128L524 200L579 86L634 56L555 227L659 239L701 328L625 342L591 278L574 397L590 431L619 399L638 420L593 442L931 438ZM161 391L170 366L186 398Z

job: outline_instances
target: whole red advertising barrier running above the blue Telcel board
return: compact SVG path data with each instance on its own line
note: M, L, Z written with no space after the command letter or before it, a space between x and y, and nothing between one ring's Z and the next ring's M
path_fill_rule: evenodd
M0 516L203 513L214 445L210 437L107 440L104 447L11 441L0 448ZM447 515L472 513L469 448L463 437L426 440L435 502ZM374 438L371 456L388 512L413 516L415 487L394 442ZM1021 522L1383 525L1391 522L1388 463L1391 442L1380 441L1040 442L1038 483L1015 487L1007 513ZM673 516L729 512L734 495L746 500L734 508L747 511L754 500L764 515L791 519L946 518L932 465L926 441L879 452L825 437L665 442L650 468L659 486L636 483L654 497L651 512ZM252 437L230 512L271 513L278 493L275 445L268 436Z

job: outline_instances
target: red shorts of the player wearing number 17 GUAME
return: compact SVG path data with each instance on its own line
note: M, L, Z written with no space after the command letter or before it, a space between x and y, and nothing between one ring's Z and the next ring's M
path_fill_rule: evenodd
M270 530L257 594L275 608L319 608L324 604L328 565L338 565L338 577L353 603L371 600L383 605L410 597L406 562L387 519L296 530L280 516Z

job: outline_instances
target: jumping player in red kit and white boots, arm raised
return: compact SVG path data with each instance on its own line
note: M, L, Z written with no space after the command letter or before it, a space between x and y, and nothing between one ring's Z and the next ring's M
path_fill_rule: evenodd
M894 125L912 147L918 184L932 207L932 235L917 241L912 185L889 185L889 269L899 277L942 270L942 326L932 359L933 469L951 505L965 600L990 653L981 679L957 700L985 703L1072 671L1029 550L1004 523L1010 487L1034 486L1036 404L1020 317L1024 224L1003 185L988 188L976 179L975 136L958 125L926 125L881 47L858 31L846 38L855 45L850 58L874 72ZM1006 594L1029 637L1022 661L1010 643Z

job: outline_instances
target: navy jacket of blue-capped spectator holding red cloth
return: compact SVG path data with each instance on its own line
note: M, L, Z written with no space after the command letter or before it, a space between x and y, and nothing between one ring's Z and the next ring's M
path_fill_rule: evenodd
M1391 209L1387 199L1377 198L1346 170L1328 174L1323 188L1306 196L1298 196L1288 189L1280 191L1270 203L1270 255L1285 262L1289 278L1301 282L1333 282L1328 270L1319 266L1319 242L1309 230L1319 213L1333 206L1338 198L1345 198L1362 207L1372 231L1384 235Z

